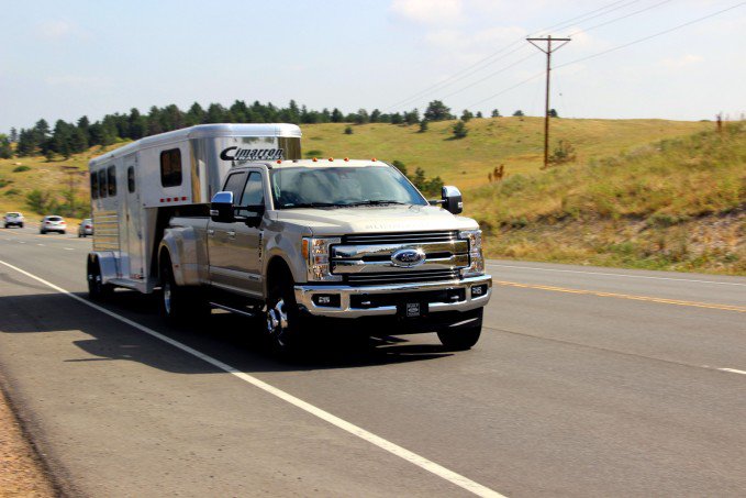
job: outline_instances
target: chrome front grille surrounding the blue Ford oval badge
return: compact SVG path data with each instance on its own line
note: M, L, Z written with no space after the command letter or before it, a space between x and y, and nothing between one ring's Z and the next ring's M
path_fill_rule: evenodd
M392 255L401 250L425 258L410 267L394 264ZM332 274L355 286L454 280L468 265L469 244L456 231L347 235L332 246L330 259Z

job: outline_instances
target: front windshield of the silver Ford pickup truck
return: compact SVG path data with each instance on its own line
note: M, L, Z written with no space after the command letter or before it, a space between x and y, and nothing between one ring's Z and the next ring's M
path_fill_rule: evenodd
M390 166L281 167L271 182L276 209L427 204Z

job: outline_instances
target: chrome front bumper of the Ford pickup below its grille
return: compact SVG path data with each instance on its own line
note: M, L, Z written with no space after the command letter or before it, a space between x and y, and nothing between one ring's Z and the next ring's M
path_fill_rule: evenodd
M472 296L474 287L481 287L482 294ZM294 289L299 307L316 317L396 316L401 312L401 306L407 302L424 306L426 313L430 314L444 311L469 311L487 306L492 295L492 277L482 275L459 280L360 287L298 285ZM316 303L319 296L338 296L339 303L338 306L320 306ZM453 300L443 299L443 297Z

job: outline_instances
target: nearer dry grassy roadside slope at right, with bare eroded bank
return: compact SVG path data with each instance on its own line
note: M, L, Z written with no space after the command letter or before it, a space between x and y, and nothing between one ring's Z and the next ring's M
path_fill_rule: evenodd
M474 189L492 256L746 275L746 125Z

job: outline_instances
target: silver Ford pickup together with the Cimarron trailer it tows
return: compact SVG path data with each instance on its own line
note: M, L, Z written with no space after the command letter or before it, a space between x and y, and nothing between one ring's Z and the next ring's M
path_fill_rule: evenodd
M259 317L281 352L327 327L475 345L492 279L458 189L428 201L385 162L299 157L298 126L216 124L92 159L90 296L159 288L169 321Z

